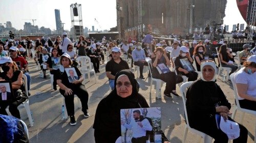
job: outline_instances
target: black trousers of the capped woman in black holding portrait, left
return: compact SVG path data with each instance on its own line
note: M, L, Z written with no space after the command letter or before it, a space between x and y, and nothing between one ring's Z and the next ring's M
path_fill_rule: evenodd
M74 105L74 95L76 95L81 103L82 103L82 111L86 112L88 109L88 92L86 91L86 87L84 85L75 85L73 88L71 88L73 91L72 95L65 95L64 90L59 90L60 94L65 97L65 104L66 104L66 109L68 112L68 116L75 115L75 105Z

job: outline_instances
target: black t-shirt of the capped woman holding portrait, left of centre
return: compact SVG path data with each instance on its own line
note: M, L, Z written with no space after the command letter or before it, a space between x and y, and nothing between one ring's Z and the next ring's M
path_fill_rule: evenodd
M79 71L79 69L77 67L71 67L71 68L75 68L76 70L76 73L77 73L77 76L78 78L82 75L81 72ZM78 83L78 84L74 84L74 83L70 83L69 82L69 78L68 78L68 75L66 73L66 70L64 70L64 72L60 72L59 69L56 71L56 73L58 74L55 74L56 75L56 80L60 79L61 80L61 83L64 84L67 88L69 89L73 89L74 86L77 86L77 85L81 85L82 83ZM61 90L61 89L59 89Z

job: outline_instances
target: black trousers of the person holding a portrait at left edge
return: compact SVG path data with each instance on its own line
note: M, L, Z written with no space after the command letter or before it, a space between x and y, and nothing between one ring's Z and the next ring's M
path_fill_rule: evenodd
M20 119L20 114L18 110L18 105L22 104L20 101L14 101L14 102L1 102L0 103L0 114L2 115L7 115L8 113L6 112L6 107L9 106L9 111L13 117L16 117Z

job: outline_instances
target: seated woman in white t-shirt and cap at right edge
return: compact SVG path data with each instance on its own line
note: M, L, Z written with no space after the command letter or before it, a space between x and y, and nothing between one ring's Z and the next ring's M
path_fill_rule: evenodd
M242 108L256 111L256 55L250 56L247 62L244 62L244 68L241 68L234 81L237 84L239 104Z

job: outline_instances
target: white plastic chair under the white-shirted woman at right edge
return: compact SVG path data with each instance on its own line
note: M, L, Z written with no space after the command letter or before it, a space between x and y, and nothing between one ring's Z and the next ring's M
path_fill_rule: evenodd
M236 117L236 113L237 113L237 110L240 110L242 111L242 115L241 115L241 120L240 120L240 124L243 124L243 120L244 120L244 113L249 113L251 115L254 115L256 116L256 111L253 111L253 110L249 110L249 109L245 109L245 108L241 108L240 107L240 104L239 104L239 99L238 99L238 90L237 90L237 84L236 82L234 81L234 75L236 75L236 73L232 73L230 75L230 80L232 82L232 85L233 85L233 91L234 91L234 100L236 101L236 104L234 104L234 111L232 113L232 119L234 119ZM255 128L255 134L254 134L254 143L256 143L256 128Z

